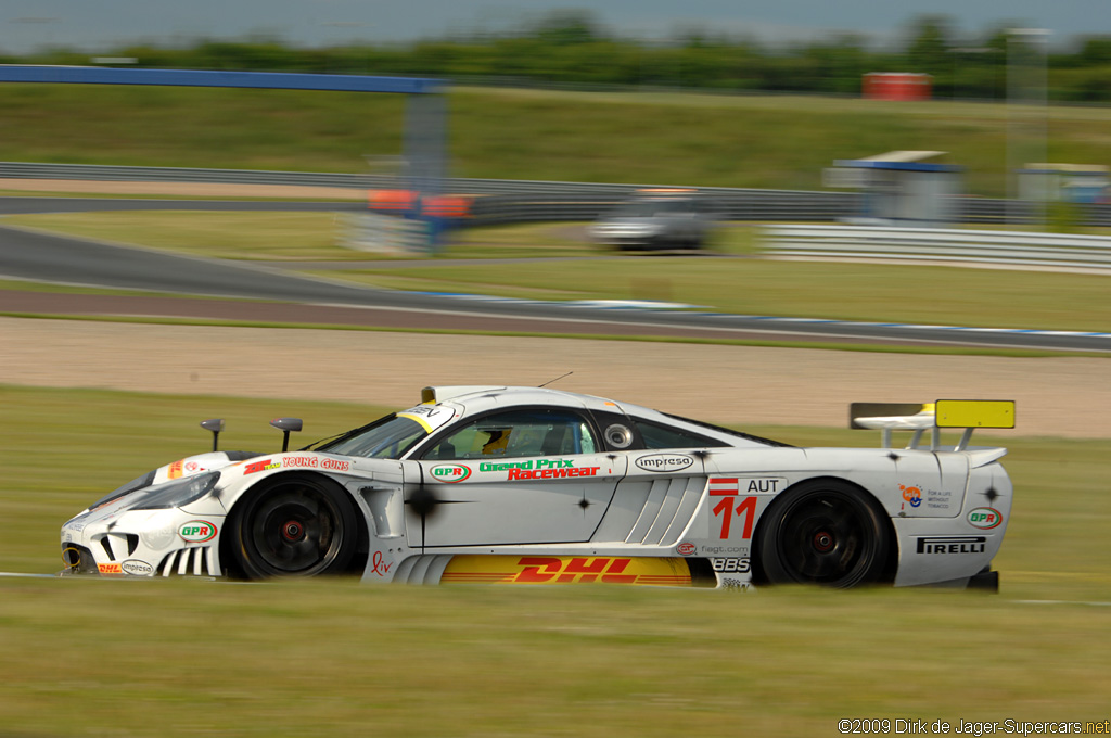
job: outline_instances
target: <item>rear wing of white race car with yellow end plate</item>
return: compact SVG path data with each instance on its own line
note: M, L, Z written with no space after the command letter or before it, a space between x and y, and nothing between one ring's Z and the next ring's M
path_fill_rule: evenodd
M969 447L977 428L1014 428L1014 400L938 400L914 402L853 402L849 406L849 427L879 429L881 448L891 448L894 430L910 430L907 448L921 448L922 436L932 430L930 450L940 447L942 428L963 428L954 451Z

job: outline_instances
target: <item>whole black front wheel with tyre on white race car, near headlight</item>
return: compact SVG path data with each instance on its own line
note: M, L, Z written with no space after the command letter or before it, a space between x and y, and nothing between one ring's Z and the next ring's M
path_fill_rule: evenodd
M359 545L350 496L313 473L262 482L236 502L228 522L233 574L247 579L342 574Z

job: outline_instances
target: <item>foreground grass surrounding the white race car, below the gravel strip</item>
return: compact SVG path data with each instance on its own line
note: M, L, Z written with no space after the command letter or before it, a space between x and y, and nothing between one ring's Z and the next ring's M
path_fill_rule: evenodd
M0 387L0 569L131 477L276 448L273 402ZM296 406L296 407L293 407ZM282 401L324 436L377 408ZM750 428L860 445L842 430ZM307 437L306 442L310 439ZM833 736L840 718L1103 720L1108 441L1008 438L998 596L0 578L4 736ZM1022 604L1015 600L1070 600Z

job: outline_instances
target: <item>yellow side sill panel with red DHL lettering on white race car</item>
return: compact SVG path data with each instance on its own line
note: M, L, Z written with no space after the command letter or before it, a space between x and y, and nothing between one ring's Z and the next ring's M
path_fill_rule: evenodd
M442 582L511 585L654 585L690 587L682 559L649 557L457 556Z

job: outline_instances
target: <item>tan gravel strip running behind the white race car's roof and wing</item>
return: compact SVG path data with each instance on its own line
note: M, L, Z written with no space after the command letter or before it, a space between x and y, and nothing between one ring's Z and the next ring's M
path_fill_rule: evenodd
M0 318L0 382L409 407L428 385L553 387L717 422L842 427L851 401L1013 399L1021 436L1111 437L1107 359ZM878 442L878 438L875 439ZM861 438L861 445L870 439Z

